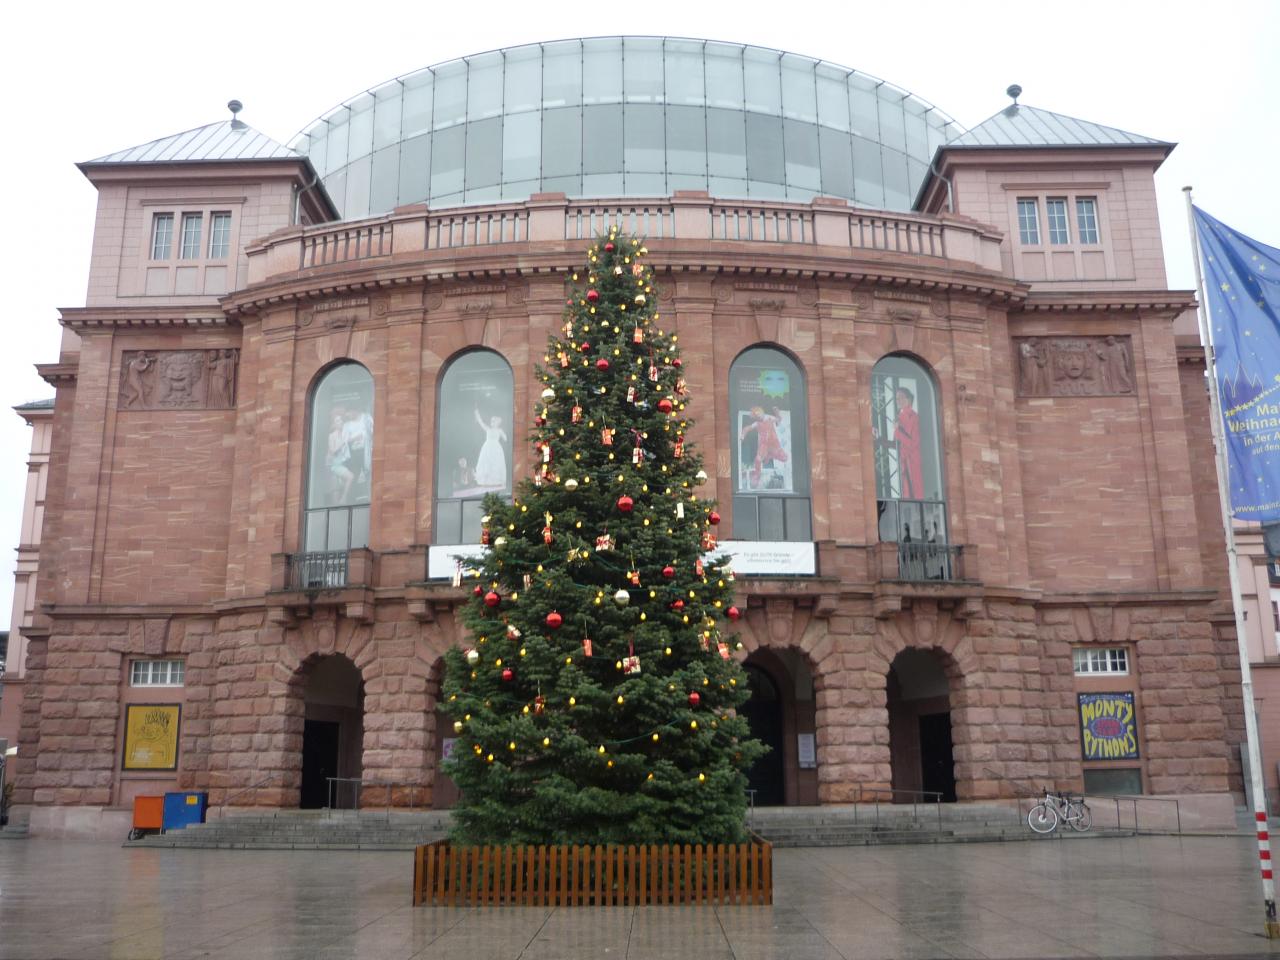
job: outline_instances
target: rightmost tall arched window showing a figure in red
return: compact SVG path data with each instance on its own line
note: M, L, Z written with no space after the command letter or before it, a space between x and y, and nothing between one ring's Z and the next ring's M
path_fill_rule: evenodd
M899 575L954 579L937 390L918 360L888 356L872 370L872 435L879 539L899 544Z

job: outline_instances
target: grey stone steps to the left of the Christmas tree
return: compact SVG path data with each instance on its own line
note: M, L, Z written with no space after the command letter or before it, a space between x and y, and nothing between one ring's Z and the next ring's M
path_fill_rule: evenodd
M166 833L129 840L129 847L205 850L412 850L442 840L447 810L367 812L274 810L229 814Z

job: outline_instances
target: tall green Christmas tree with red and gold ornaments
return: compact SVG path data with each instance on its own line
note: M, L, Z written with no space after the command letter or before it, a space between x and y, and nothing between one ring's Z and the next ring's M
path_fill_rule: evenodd
M539 367L534 476L485 502L470 637L445 660L458 842L744 833L765 748L736 713L733 575L709 558L719 515L646 252L616 232L591 246Z

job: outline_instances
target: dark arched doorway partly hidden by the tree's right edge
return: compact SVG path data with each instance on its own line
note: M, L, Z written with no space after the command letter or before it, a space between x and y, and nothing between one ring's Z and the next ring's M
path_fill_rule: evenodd
M751 696L741 713L769 751L748 771L756 806L818 803L813 673L791 648L759 649L744 664Z

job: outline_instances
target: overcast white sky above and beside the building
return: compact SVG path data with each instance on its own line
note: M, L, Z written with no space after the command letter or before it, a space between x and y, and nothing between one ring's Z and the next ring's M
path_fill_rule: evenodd
M1172 287L1194 284L1183 184L1220 220L1280 246L1274 0L14 4L0 41L0 625L31 439L9 408L52 396L32 365L58 358L58 308L84 302L96 195L77 161L224 119L232 97L242 119L288 142L338 102L429 64L626 33L822 58L961 127L1002 109L1016 82L1024 104L1180 145L1156 177Z

